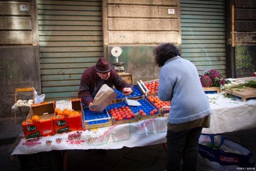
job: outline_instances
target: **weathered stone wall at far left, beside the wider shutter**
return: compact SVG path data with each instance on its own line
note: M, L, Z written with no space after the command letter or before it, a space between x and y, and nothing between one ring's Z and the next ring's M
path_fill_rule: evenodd
M0 117L12 117L15 88L40 91L34 0L0 2Z

